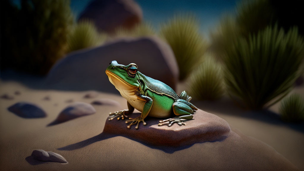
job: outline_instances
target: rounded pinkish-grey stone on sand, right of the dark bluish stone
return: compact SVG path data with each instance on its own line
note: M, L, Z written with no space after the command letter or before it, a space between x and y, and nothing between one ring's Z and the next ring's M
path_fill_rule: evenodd
M48 126L66 122L78 117L83 117L95 113L96 110L91 104L84 102L74 102L67 106L63 111L60 112L56 120L50 123Z

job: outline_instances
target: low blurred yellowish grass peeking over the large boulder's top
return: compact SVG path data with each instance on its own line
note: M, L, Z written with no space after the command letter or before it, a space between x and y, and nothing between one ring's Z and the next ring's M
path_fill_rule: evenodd
M140 23L134 26L132 29L126 29L119 27L115 31L116 37L143 37L155 35L155 29L151 23Z

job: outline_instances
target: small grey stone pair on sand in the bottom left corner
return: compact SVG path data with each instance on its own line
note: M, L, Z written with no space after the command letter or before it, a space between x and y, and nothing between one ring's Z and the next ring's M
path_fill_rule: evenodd
M66 163L67 160L61 155L54 152L46 152L44 150L34 150L31 155L34 159L43 162L60 162Z

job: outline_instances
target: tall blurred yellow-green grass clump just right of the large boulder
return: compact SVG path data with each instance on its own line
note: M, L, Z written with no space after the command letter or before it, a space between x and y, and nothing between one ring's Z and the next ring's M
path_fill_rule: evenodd
M161 26L160 35L174 52L180 71L179 79L185 79L206 50L198 19L191 14L176 15Z

